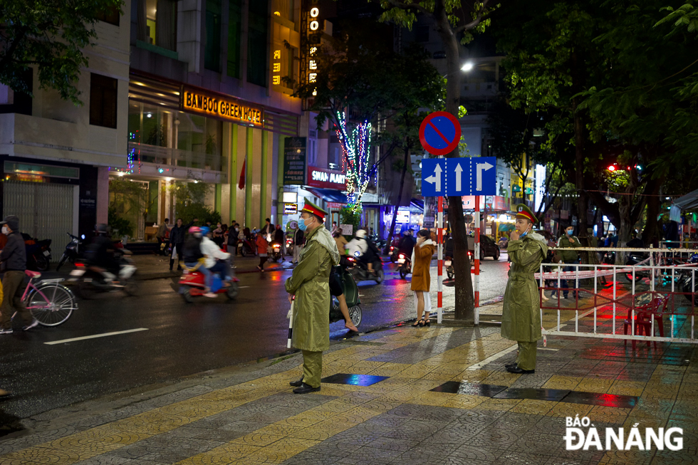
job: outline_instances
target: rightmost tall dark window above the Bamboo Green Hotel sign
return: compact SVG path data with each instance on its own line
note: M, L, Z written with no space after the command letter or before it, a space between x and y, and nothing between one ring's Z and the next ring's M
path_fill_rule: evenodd
M266 52L269 10L266 1L249 2L249 27L247 31L247 82L266 87Z

